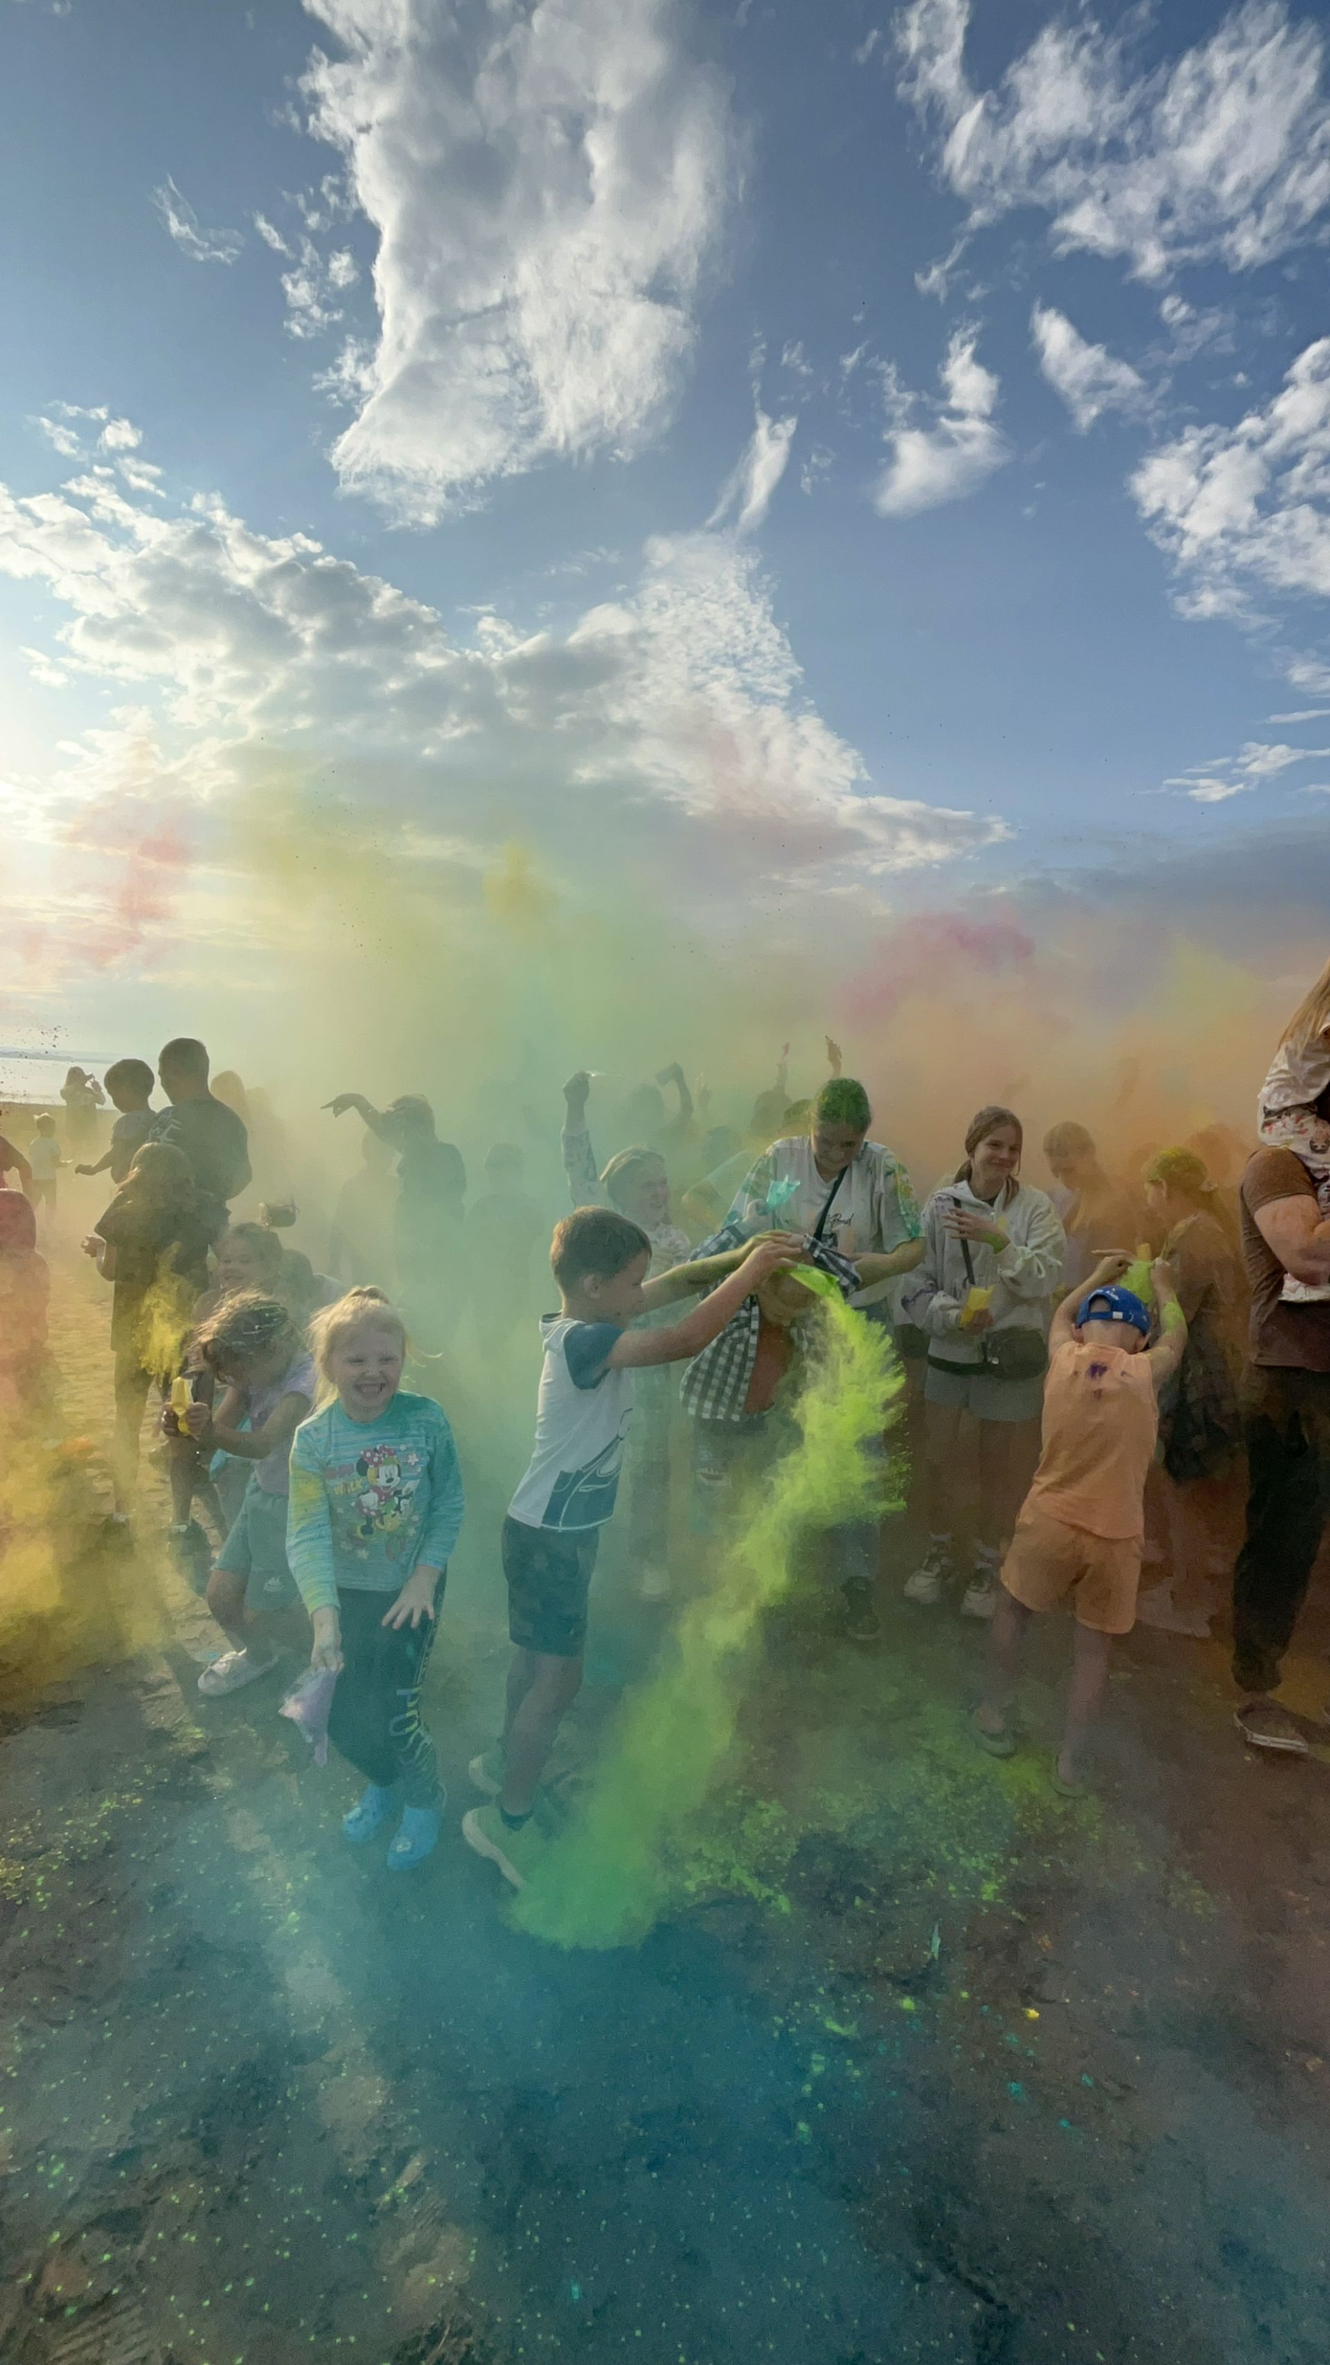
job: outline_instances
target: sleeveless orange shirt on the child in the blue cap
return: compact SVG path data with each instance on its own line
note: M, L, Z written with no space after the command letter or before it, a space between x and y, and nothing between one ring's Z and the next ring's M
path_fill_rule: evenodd
M1087 1535L1141 1537L1158 1433L1146 1355L1073 1339L1044 1381L1044 1452L1028 1499Z

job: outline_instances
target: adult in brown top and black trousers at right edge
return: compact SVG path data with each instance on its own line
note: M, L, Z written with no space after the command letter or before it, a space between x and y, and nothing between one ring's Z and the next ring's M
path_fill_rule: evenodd
M1330 1116L1330 1093L1321 1100ZM1283 1277L1330 1282L1330 1225L1292 1149L1257 1149L1243 1173L1243 1256L1252 1284L1245 1372L1247 1537L1233 1570L1233 1677L1240 1734L1306 1755L1271 1700L1330 1518L1330 1301L1285 1301Z

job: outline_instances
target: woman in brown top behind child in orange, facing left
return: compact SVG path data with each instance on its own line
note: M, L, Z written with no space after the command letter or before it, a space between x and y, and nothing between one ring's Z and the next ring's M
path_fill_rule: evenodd
M1188 1339L1181 1369L1160 1398L1158 1485L1172 1575L1139 1596L1136 1618L1200 1639L1210 1634L1212 1580L1228 1573L1238 1544L1238 1369L1247 1289L1205 1161L1193 1149L1160 1149L1143 1182Z

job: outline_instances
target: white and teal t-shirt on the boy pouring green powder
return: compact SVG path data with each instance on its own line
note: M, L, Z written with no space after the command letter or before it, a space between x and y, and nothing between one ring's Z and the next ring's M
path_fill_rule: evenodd
M508 1504L524 1528L602 1528L614 1511L633 1374L609 1369L619 1322L541 1315L546 1367L532 1466Z

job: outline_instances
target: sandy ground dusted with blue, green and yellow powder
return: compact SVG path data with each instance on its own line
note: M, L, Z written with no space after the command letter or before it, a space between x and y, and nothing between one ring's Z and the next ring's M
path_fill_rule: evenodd
M61 1277L94 1445L104 1336ZM1254 1757L1224 1648L1136 1634L1061 1802L1065 1627L985 1760L983 1634L898 1599L900 1525L879 1646L815 1599L768 1634L654 1935L558 1953L456 1835L498 1509L482 1473L411 1878L347 1849L276 1679L201 1700L151 1518L0 1601L5 2365L1321 2365L1330 1750ZM609 1566L567 1800L652 1641Z

